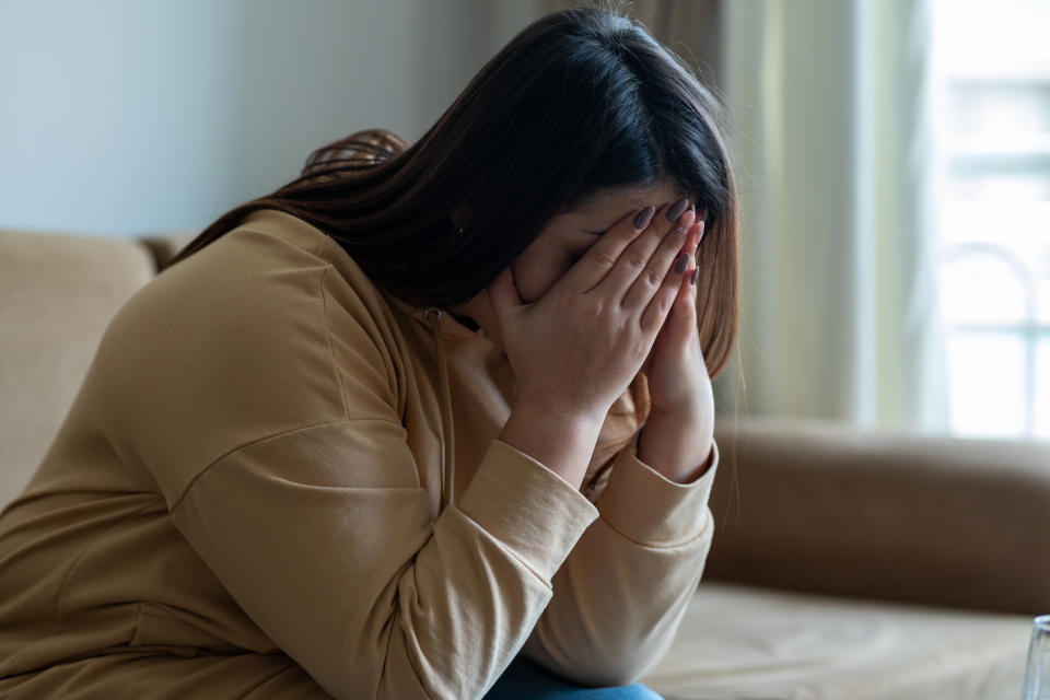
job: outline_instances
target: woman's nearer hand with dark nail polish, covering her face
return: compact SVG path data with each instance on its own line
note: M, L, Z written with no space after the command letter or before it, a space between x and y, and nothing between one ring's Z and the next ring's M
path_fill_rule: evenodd
M684 213L668 221L676 209ZM696 218L685 200L649 222L643 211L614 224L530 304L522 303L510 266L489 285L517 385L515 408L600 424L641 370L681 285L673 268L687 234L676 226L688 231Z

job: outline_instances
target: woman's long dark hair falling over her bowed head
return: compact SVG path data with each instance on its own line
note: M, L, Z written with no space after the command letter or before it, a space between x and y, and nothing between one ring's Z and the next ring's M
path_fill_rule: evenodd
M697 293L713 376L740 307L721 106L687 62L610 9L540 18L419 141L372 130L318 149L299 178L222 215L172 265L250 211L279 209L330 235L377 287L444 307L480 292L553 215L605 188L665 180L708 210Z

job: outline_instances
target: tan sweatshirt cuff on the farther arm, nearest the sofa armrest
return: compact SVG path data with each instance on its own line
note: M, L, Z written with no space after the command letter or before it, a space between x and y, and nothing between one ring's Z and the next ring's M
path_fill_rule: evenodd
M678 483L638 458L634 432L616 455L596 505L602 517L625 537L646 547L675 547L698 537L707 526L708 498L719 466L711 443L711 466L695 481Z

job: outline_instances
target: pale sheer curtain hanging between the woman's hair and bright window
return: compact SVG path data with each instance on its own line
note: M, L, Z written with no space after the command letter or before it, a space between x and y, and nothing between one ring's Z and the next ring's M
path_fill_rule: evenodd
M732 0L744 316L721 415L947 430L922 0Z

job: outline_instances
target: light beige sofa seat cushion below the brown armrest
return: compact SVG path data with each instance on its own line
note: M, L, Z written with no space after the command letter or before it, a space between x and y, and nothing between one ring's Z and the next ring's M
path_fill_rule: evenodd
M642 679L666 700L1016 700L1031 617L702 581Z

